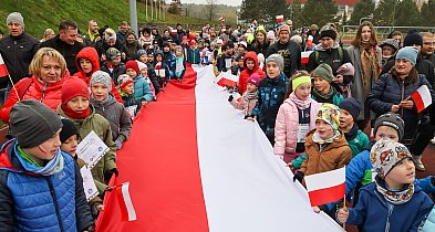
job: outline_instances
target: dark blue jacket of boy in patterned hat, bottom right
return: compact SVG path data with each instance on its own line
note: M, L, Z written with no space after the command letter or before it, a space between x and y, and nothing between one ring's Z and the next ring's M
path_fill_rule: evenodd
M414 196L403 204L392 204L370 183L360 191L360 200L354 208L349 208L346 223L363 226L363 232L417 231L426 221L434 202L415 186Z

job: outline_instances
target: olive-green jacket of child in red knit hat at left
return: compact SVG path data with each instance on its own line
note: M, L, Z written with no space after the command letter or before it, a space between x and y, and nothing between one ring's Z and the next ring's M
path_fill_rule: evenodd
M90 106L91 107L91 106ZM104 190L107 188L110 180L105 179L105 175L113 169L116 169L116 145L112 138L112 130L110 123L101 115L95 114L93 107L91 107L92 113L90 116L81 119L69 118L65 113L63 113L61 105L58 107L58 114L62 117L69 118L75 125L79 130L80 139L79 143L84 139L92 130L104 141L104 144L110 148L106 155L100 159L100 161L91 169L92 177L100 194L103 194Z

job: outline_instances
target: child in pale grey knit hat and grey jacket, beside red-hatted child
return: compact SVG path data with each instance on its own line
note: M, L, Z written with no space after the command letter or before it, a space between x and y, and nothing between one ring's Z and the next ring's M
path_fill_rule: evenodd
M111 85L111 76L105 72L96 71L91 80L91 104L95 113L102 115L111 124L113 141L116 148L121 149L132 130L132 119L124 105L114 101L108 92Z

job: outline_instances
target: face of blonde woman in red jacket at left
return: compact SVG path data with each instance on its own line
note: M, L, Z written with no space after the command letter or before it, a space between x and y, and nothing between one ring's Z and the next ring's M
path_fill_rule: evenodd
M52 85L61 81L61 64L54 57L44 55L40 68L41 76L39 76L39 78L42 80L43 83Z

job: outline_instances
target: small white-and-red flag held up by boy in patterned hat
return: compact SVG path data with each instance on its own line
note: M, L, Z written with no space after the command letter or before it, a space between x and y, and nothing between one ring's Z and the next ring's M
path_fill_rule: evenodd
M322 173L305 176L311 207L338 201L345 193L345 167Z

